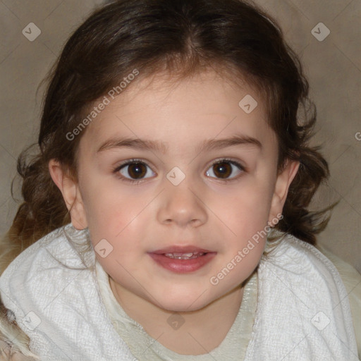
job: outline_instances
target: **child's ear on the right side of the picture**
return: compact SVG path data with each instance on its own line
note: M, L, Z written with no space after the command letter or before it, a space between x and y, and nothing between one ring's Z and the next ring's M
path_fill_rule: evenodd
M274 195L271 201L271 210L269 212L269 222L271 222L272 219L278 218L277 214L282 214L283 205L288 195L288 188L293 178L295 178L299 166L299 161L288 161L283 171L277 176Z

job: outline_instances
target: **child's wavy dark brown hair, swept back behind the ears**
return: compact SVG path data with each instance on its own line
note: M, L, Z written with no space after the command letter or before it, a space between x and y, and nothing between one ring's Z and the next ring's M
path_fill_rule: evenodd
M71 221L48 163L58 160L76 181L77 149L85 130L73 140L67 134L97 99L135 69L137 79L168 71L176 80L206 67L238 84L246 80L264 97L279 142L278 171L288 159L300 161L276 228L314 244L334 204L319 212L307 207L329 169L319 148L308 144L316 111L298 56L276 21L239 0L122 0L94 11L68 39L51 72L39 150L32 159L27 159L29 149L18 158L24 201L8 231L6 252L16 257Z

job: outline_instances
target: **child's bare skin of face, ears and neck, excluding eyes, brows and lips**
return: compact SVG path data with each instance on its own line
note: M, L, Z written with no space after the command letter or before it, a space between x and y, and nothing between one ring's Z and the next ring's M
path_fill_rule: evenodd
M250 114L238 106L246 94L258 102ZM298 171L293 161L277 174L276 135L267 126L263 104L249 85L235 87L213 71L173 85L164 77L138 80L81 135L77 182L59 163L49 162L73 226L89 227L93 246L105 238L113 247L105 258L96 257L110 276L116 300L150 336L183 355L207 353L224 340L242 302L241 283L255 271L265 238L216 286L209 280L282 213ZM243 144L197 150L205 140L235 134L256 138L262 149ZM166 142L168 150L97 152L114 136ZM149 164L140 183L121 180L134 177L129 167L113 173L133 158ZM245 167L240 171L228 163L228 183L212 166L224 158ZM185 174L179 185L166 178L175 166ZM216 257L197 271L175 274L147 254L170 245L196 245ZM185 320L177 330L167 323L174 312Z

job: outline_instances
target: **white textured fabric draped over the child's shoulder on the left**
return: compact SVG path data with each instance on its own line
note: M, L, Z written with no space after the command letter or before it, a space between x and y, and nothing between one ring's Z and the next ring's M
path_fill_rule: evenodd
M65 227L81 241L87 229ZM1 299L41 361L133 361L112 326L94 272L94 252L80 257L58 228L28 247L0 278Z

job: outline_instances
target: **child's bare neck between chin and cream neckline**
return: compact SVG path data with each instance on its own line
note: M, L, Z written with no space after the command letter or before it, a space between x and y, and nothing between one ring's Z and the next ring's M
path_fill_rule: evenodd
M200 310L176 312L183 322L177 328L176 324L174 327L169 324L169 317L175 312L163 310L119 288L111 277L109 281L116 300L128 316L161 345L181 355L202 355L218 347L231 329L243 299L240 285ZM174 320L177 322L176 318Z

